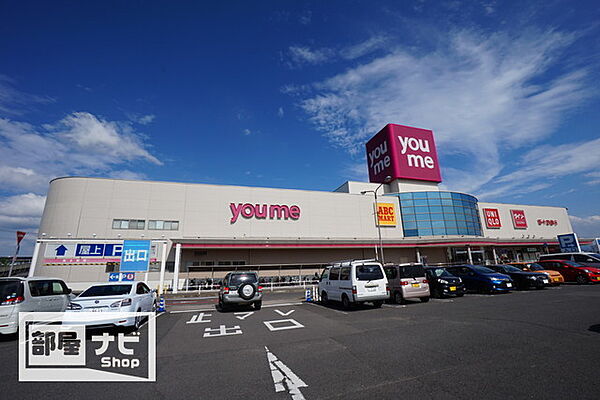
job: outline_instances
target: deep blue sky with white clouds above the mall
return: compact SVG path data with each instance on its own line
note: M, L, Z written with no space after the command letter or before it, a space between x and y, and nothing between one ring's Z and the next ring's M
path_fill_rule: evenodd
M386 123L451 190L569 208L600 236L600 5L0 2L0 254L48 181L333 190Z

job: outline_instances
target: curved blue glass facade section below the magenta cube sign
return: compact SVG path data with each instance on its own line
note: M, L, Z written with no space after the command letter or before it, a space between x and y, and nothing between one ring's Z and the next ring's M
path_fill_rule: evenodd
M481 236L477 199L454 192L400 193L404 236Z

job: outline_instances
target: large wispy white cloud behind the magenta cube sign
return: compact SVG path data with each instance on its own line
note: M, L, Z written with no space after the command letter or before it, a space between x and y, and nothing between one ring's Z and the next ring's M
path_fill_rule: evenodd
M590 95L585 70L545 76L574 40L456 32L430 52L392 50L315 83L300 105L353 154L390 122L433 129L442 156L460 160L460 169L444 167L445 183L473 192L501 173L504 151L547 138Z

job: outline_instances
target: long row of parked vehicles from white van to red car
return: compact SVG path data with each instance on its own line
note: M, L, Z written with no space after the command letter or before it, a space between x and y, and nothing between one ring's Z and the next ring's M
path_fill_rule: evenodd
M460 297L467 291L504 293L539 290L564 282L600 282L600 268L554 259L553 256L547 255L538 262L486 266L381 265L376 260L346 261L323 271L318 291L323 303L337 301L349 308L372 302L375 307L381 307L384 301L405 304L407 300L418 299L427 302L432 296Z

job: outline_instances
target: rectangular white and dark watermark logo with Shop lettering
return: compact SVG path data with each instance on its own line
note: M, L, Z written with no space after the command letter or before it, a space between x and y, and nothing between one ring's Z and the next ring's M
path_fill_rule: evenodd
M148 322L137 332L113 327L136 318ZM154 382L155 319L150 312L19 313L19 380Z

